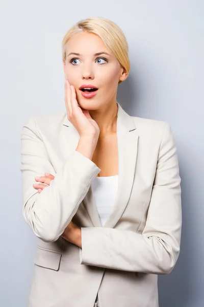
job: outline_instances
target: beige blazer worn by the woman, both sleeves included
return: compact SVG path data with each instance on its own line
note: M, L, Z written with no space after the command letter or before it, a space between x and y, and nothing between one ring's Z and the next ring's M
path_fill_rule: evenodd
M180 252L181 178L170 125L129 116L118 104L119 182L101 226L93 179L100 169L75 151L66 113L30 117L22 128L23 216L39 238L29 307L158 307L157 274ZM55 179L40 194L35 176ZM70 221L82 249L61 237Z

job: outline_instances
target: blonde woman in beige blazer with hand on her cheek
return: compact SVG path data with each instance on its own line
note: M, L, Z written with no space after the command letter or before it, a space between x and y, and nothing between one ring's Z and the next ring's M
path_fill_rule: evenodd
M79 21L63 39L67 112L23 126L23 215L39 238L30 307L158 307L157 275L179 256L174 139L116 101L127 53L116 24Z

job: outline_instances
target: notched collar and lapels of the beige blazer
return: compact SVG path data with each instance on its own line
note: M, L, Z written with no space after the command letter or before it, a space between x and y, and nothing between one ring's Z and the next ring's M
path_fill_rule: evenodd
M118 144L118 189L112 212L110 213L104 225L104 227L108 228L113 228L116 226L129 202L134 182L138 148L138 133L135 122L133 118L123 110L118 102L117 105L118 113L116 134ZM80 138L79 133L77 129L75 129L75 127L72 125L72 123L67 119L67 115L63 120L63 126L63 131L66 134L67 150L73 151L78 145ZM69 127L70 130L67 127ZM95 227L101 227L91 186L83 202L86 210L89 213L92 225Z

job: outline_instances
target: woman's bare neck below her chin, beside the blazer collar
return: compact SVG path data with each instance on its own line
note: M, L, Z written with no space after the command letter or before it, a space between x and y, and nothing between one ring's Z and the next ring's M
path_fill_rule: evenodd
M89 111L100 128L100 136L116 132L118 106L116 101L97 110Z

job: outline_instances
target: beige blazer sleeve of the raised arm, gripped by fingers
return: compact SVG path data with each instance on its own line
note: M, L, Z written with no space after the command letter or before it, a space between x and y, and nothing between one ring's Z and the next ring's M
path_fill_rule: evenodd
M56 173L35 119L30 117L22 127L20 170L25 221L44 242L55 242L77 212L100 168L75 150ZM44 176L45 172L55 179L38 193L33 183L36 176Z

